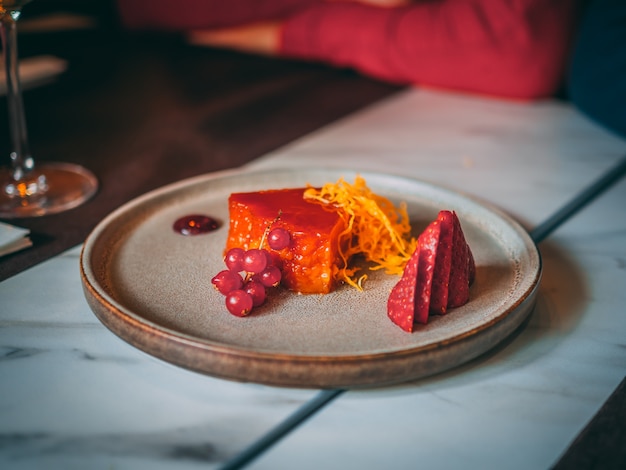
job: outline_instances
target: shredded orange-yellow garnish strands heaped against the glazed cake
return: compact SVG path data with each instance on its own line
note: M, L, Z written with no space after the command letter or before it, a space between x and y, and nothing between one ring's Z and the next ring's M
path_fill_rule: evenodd
M357 254L373 263L370 270L402 274L417 246L417 239L411 237L405 203L396 208L388 199L374 194L365 179L358 175L354 185L341 178L320 189L309 186L304 198L336 211L346 223L346 229L339 236L338 250L343 266L335 273L337 280L363 290L367 275L356 278L358 268L348 265L350 258Z

